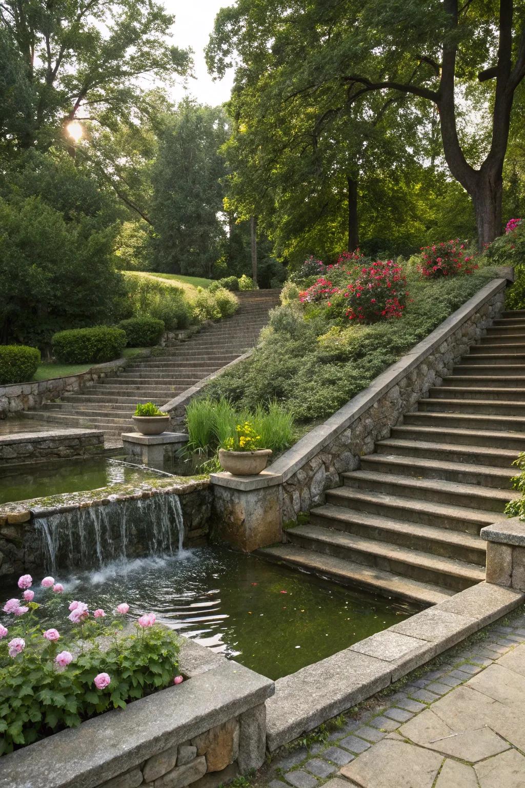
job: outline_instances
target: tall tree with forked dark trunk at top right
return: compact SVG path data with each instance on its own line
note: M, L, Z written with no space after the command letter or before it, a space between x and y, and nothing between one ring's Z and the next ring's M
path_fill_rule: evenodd
M250 89L269 62L280 74L283 105L343 86L347 106L374 93L435 106L443 154L472 199L482 246L501 232L512 106L525 76L524 23L520 0L238 0L216 18L208 58L219 74L237 65L239 90Z

